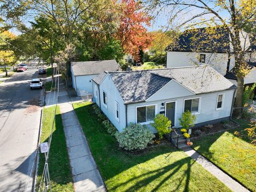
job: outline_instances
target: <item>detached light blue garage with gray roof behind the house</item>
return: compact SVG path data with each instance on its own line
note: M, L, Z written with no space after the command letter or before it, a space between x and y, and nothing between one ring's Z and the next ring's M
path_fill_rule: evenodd
M116 60L103 61L76 61L71 62L72 85L77 92L92 93L92 77L102 73L103 71L121 70Z

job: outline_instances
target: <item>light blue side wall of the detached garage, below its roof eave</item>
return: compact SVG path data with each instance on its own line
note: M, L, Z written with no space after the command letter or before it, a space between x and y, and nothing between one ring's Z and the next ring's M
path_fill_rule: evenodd
M95 75L76 76L77 90L82 90L82 91L92 93L93 92L92 77L94 76Z

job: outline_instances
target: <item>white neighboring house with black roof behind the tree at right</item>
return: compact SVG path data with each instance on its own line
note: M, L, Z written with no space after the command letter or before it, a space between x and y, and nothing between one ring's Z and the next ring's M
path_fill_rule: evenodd
M234 70L232 71L235 66L235 59L228 31L219 27L214 30L214 34L209 35L208 29L198 28L182 33L176 45L170 45L166 48L166 67L209 65L226 78L231 76L228 75L230 73L233 74L232 77L235 76ZM243 49L247 49L253 39L245 32L241 33L240 36L241 46ZM252 67L251 73L245 77L245 84L256 82L255 51L256 46L252 46L245 55L245 60ZM236 80L232 79L231 82L237 84Z

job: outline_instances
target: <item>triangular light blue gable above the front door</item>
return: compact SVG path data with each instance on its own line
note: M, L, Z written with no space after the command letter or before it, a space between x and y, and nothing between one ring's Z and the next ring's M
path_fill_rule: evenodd
M150 98L148 98L147 102L184 97L188 95L194 95L194 93L187 90L185 87L181 86L177 82L171 80L169 83L163 86L162 89L160 89Z

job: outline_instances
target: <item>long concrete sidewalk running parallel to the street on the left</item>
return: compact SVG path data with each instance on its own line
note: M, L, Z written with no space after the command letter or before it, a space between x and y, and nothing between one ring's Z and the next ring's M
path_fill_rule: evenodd
M106 191L68 93L63 88L60 89L58 102L66 135L75 191Z

